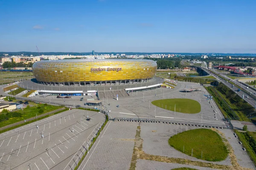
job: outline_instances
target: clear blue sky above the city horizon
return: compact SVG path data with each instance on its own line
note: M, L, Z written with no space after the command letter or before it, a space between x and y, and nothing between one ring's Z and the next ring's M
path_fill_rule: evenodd
M0 51L256 53L256 0L0 0Z

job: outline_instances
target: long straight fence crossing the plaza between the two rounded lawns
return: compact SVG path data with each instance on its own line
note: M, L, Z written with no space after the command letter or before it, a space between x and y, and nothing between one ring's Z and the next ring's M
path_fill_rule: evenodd
M166 124L180 124L186 126L197 126L197 127L214 127L221 129L231 129L221 124L207 124L204 122L189 122L189 121L176 121L176 120L165 120L165 119L146 119L146 118L113 118L113 121L134 121L134 122L147 122L147 123L166 123Z

